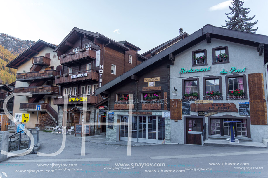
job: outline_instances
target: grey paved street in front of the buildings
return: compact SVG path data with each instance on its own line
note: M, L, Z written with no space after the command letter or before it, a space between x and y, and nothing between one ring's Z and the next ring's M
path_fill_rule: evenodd
M53 153L60 149L62 135L40 132L39 140L39 152ZM86 141L86 155L81 156L81 137L67 135L65 148L57 156L15 157L1 162L0 168L8 177L29 178L268 177L268 149L178 144L133 146L131 149L131 156L127 156L127 146ZM129 165L115 165L117 163Z

